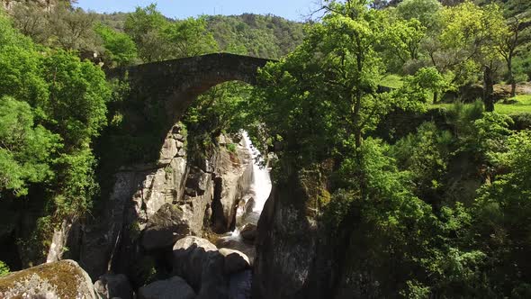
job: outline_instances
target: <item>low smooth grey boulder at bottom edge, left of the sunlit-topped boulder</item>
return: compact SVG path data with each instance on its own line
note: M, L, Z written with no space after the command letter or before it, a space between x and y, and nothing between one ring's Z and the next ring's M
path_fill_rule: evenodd
M193 299L195 293L183 278L173 276L139 288L139 299ZM122 298L123 299L123 298Z

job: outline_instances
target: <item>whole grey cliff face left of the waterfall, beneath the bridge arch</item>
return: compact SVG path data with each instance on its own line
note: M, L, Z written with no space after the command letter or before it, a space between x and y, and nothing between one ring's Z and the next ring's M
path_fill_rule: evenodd
M238 196L250 185L250 156L245 147L232 153L220 146L201 163L191 162L185 139L175 124L156 163L121 168L103 213L82 225L78 259L93 279L110 270L130 273L147 251L202 236L211 222L229 228Z

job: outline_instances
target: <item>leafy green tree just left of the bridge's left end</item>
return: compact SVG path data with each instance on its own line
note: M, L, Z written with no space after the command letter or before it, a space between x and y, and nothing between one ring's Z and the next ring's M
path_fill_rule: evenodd
M91 62L82 62L64 50L45 57L42 67L49 84L49 100L41 108L49 127L61 135L67 149L79 148L106 124L105 103L111 91L105 74Z

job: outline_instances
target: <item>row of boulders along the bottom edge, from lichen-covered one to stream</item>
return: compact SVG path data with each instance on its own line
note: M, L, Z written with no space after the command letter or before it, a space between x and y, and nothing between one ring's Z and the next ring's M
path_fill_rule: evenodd
M139 287L127 276L105 274L92 284L73 260L42 264L0 279L0 298L199 299L249 298L250 263L233 249L217 249L209 240L185 237L173 246L169 277Z

